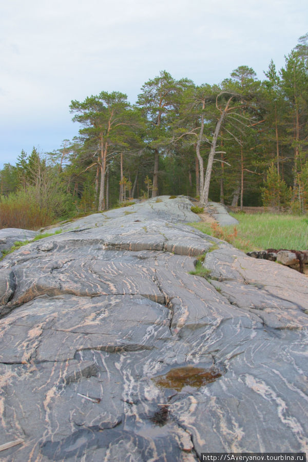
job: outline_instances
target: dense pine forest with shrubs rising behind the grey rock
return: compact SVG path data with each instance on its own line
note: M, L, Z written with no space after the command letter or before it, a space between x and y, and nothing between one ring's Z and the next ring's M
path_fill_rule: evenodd
M69 110L78 136L52 152L22 150L0 170L1 228L158 195L308 211L308 33L262 81L248 66L216 85L160 71L135 104L102 91Z

